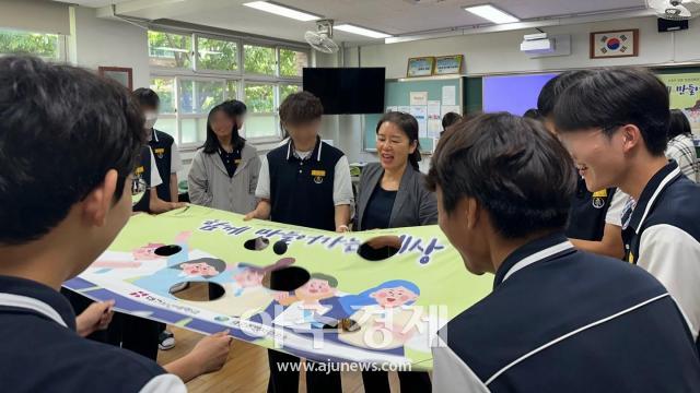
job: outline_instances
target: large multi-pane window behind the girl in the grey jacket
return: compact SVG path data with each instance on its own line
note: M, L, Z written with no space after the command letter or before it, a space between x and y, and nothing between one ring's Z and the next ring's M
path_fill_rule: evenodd
M279 139L278 108L301 90L308 51L234 37L149 32L151 88L161 97L159 130L184 146L206 139L209 110L226 99L248 107L247 139Z

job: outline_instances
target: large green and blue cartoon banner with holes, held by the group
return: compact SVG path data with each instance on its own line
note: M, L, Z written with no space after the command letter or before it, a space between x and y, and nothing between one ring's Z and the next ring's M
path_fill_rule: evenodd
M360 257L378 236L398 237L398 252L381 261ZM269 273L289 266L310 279L289 291L269 289ZM65 286L115 299L120 312L205 334L228 329L312 360L430 370L438 330L483 298L492 279L469 274L436 226L339 235L192 205L133 216ZM208 283L207 297L188 300L183 294L197 283Z

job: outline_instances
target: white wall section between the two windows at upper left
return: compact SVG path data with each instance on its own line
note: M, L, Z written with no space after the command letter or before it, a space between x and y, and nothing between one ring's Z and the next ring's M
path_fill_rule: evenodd
M71 7L69 60L80 67L125 67L133 70L133 88L148 87L147 31L132 24L96 17L95 9Z

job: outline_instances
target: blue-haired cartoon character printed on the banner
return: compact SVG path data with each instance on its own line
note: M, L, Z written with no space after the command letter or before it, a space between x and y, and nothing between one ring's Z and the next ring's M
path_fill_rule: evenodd
M388 281L359 295L343 296L340 305L360 329L342 332L338 338L362 348L402 347L423 327L421 308L410 307L419 296L418 286L404 279Z

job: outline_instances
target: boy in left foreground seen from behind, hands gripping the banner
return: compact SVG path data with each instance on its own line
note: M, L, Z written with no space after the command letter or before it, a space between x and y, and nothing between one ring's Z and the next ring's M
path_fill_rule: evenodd
M110 303L77 320L58 291L131 215L144 134L129 93L86 70L10 56L0 59L0 167L12 168L0 171L0 390L179 393L220 369L223 332L161 367L81 337L104 327Z

